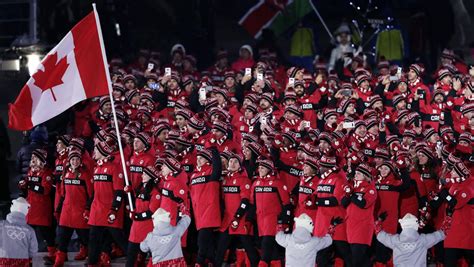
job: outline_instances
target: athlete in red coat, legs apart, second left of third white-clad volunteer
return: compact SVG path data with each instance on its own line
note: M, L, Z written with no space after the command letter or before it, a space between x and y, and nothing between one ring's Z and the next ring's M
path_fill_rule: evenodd
M247 220L247 213L251 209L251 181L247 172L242 168L242 157L233 152L229 154L228 173L222 182L224 217L219 230L221 233L217 246L216 263L217 266L222 265L227 248L238 238L247 252L251 266L257 266L259 256L251 238L252 223ZM237 265L245 262L245 252L237 250Z

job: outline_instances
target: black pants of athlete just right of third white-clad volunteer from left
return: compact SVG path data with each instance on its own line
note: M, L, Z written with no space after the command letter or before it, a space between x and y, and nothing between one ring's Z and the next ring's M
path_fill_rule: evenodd
M332 245L322 249L316 256L318 267L332 266L332 254L344 260L344 266L352 266L351 248L346 241L334 240Z

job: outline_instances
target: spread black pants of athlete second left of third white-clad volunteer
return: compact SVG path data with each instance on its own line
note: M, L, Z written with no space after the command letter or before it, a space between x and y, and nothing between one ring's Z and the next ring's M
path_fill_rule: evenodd
M219 235L219 241L217 243L216 252L216 265L221 266L224 261L225 251L229 248L231 243L240 241L245 253L249 257L250 264L253 266L258 265L259 257L257 249L253 246L252 237L249 235L229 235L229 231L222 232Z

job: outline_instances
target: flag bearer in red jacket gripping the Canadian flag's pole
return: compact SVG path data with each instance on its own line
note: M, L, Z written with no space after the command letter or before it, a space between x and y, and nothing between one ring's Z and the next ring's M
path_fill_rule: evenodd
M128 238L126 263L128 267L140 266L145 262L146 254L140 252L140 243L145 240L148 233L153 231L152 215L160 206L161 195L155 184L158 178L159 172L155 167L147 166L143 168L142 181L135 189L131 186L124 188L125 193L132 193L135 198L135 210L130 212L133 223Z

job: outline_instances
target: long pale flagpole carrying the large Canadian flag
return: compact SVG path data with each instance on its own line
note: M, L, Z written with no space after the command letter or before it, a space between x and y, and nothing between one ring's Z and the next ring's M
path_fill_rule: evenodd
M98 34L99 34L100 48L101 48L101 51L102 51L102 59L104 60L105 76L107 77L107 86L108 86L108 89L109 89L110 104L112 105L112 115L114 117L115 131L117 132L117 141L118 141L118 145L119 145L120 159L122 161L123 176L125 178L125 185L129 186L130 182L128 181L127 166L125 165L125 156L123 155L123 148L122 148L120 130L119 130L119 127L118 127L117 114L115 112L114 97L112 96L112 81L110 80L110 73L109 73L109 68L108 68L108 63L107 63L107 57L105 55L104 40L102 39L102 28L100 27L99 15L97 13L95 3L92 4L92 7L94 8L94 16L95 16L95 21L96 21L96 24L97 24L97 31L98 31ZM127 197L128 197L128 204L130 205L130 211L134 211L133 201L132 201L132 194L130 192L127 193Z

